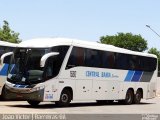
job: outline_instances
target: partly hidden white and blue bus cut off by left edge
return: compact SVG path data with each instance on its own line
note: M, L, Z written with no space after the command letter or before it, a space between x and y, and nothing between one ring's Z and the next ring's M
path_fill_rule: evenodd
M0 41L0 57L4 53L11 52L16 47L16 44ZM0 61L0 100L2 99L2 89L7 77L8 64L1 64Z

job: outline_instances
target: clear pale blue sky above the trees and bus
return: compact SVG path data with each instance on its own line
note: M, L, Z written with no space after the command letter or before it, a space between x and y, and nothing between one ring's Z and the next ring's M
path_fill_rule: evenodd
M7 20L20 39L66 37L99 41L118 32L140 34L160 50L159 0L0 0L0 27Z

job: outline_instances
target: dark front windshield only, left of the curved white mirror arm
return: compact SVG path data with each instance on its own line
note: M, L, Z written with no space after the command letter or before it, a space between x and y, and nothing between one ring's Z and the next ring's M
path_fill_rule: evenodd
M40 60L49 51L49 48L17 48L10 61L8 80L24 84L42 81L44 68L40 67Z

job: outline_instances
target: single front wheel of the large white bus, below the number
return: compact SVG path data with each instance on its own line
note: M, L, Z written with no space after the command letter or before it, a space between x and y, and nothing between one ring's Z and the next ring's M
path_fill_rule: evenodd
M69 90L65 89L62 91L60 100L56 101L55 104L59 107L67 107L71 102L72 96Z

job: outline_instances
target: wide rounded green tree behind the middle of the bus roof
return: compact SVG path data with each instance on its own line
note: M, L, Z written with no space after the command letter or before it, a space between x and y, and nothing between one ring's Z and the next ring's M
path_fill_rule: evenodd
M102 36L100 38L100 43L111 44L139 52L147 50L147 41L142 38L141 35L133 35L132 33L118 33L113 36Z

